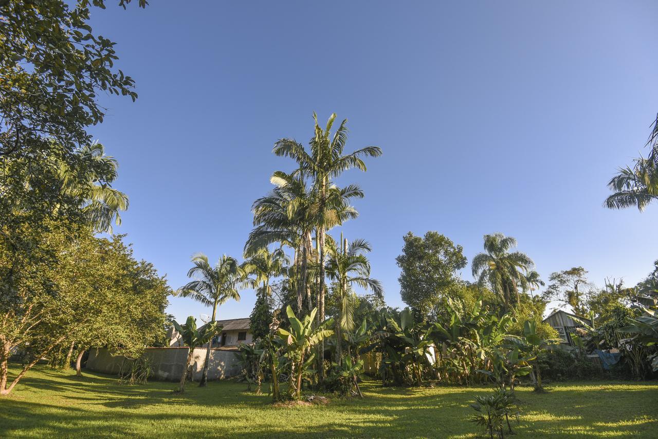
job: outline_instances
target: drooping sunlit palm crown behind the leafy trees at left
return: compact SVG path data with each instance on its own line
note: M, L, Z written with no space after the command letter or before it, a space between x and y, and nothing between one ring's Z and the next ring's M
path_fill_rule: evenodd
M98 142L84 145L76 153L89 161L82 176L86 184L72 184L80 176L61 163L59 176L63 191L67 195L84 199L83 210L95 230L112 233L113 222L117 226L121 225L119 212L128 209L128 195L111 186L118 177L118 162L114 157L105 155L105 148Z

